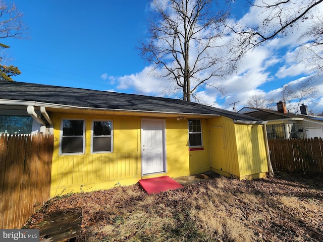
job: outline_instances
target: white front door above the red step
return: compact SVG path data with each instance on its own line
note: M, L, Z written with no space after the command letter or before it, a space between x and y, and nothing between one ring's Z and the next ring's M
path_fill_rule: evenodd
M142 175L165 172L165 120L141 121Z

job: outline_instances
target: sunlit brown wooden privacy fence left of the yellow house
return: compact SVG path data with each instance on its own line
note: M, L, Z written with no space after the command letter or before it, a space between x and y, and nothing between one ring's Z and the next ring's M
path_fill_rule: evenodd
M50 196L52 135L0 137L0 229L21 228Z

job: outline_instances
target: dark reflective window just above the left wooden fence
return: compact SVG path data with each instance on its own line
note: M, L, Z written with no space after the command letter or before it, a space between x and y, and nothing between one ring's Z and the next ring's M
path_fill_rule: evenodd
M30 134L32 122L31 116L0 115L0 134Z

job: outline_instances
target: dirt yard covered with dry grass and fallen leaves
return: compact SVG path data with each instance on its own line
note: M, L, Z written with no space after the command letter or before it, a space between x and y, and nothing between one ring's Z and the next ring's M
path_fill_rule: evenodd
M238 180L178 179L184 188L147 195L136 184L49 200L44 216L82 211L76 241L323 241L323 177L276 173Z

